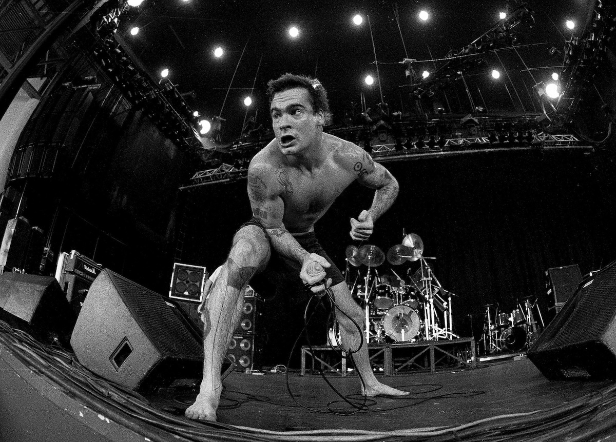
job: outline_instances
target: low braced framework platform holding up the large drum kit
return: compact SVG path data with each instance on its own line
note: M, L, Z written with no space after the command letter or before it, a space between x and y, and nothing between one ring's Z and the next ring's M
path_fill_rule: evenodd
M476 368L475 341L470 337L451 340L424 340L397 344L368 345L370 363L384 376L395 376L413 369L436 371L440 368ZM347 374L349 356L338 347L304 345L301 354L301 376L306 376L306 364L312 372L328 370L341 376Z

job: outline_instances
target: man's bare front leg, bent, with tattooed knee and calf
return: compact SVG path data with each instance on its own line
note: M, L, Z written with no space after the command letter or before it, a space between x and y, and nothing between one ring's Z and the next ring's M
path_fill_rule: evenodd
M188 419L216 420L222 392L222 360L240 322L244 287L254 273L265 268L269 258L269 240L260 227L249 225L235 234L229 257L201 313L203 380L195 403L184 413Z

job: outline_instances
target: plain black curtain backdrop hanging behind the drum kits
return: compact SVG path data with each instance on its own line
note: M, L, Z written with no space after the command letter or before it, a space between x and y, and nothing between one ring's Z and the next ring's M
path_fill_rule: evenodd
M434 274L456 294L453 324L460 336L479 339L487 303L510 312L517 300L537 297L549 319L548 268L578 264L585 274L616 259L611 149L512 150L385 164L399 180L400 194L369 243L387 252L401 243L403 232L421 236L424 256L436 258L429 260ZM344 251L352 244L349 219L370 206L372 195L352 185L317 223L323 247L343 270ZM246 181L205 186L186 196L192 209L183 260L213 270L250 215ZM418 262L395 267L385 262L378 271L391 268L406 277ZM357 271L351 267L349 276L354 279ZM365 267L359 271L365 275ZM286 363L306 300L304 294L289 294L262 306L266 363ZM316 316L315 322L323 321L325 313ZM311 336L312 344L325 342L325 326L317 324Z

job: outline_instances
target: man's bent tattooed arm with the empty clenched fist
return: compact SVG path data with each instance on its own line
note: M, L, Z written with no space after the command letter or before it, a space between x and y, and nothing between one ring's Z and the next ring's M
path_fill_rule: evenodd
M370 209L362 211L357 219L351 218L351 238L363 240L370 238L376 220L394 204L399 185L393 175L381 164L375 163L367 152L364 151L361 158L356 159L353 170L357 173L357 181L375 189Z

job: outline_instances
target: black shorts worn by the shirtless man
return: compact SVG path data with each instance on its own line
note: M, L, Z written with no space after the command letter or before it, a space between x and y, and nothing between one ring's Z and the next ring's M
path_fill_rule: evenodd
M265 235L267 235L267 231L265 231L265 227L263 227L259 219L253 217L251 220L241 225L240 228L247 225L257 225L261 227ZM321 255L331 264L329 268L325 269L325 278L331 278L331 286L335 286L344 281L344 276L342 276L338 267L336 267L325 250L323 250L321 244L318 243L317 235L314 231L293 236L293 238L295 238L299 245L307 252ZM298 292L309 294L308 289L304 287L301 278L299 278L299 272L302 270L301 263L278 254L278 252L274 250L274 247L271 247L271 251L272 255L265 270L261 273L257 273L250 280L250 286L253 287L254 291L264 299L272 299L278 294L293 295ZM312 292L310 292L310 294L312 294Z

